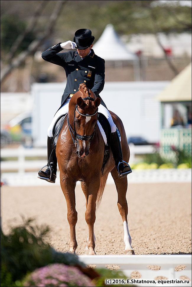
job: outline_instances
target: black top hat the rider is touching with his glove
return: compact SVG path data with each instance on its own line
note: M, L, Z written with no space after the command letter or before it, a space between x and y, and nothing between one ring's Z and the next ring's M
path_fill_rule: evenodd
M93 43L95 37L91 35L90 29L79 29L75 32L73 42L76 43L77 49L87 49Z

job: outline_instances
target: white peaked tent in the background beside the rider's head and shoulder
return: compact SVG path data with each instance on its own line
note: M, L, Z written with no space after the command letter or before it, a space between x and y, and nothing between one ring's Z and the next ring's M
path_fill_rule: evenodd
M96 55L105 59L105 61L131 61L134 65L135 80L139 78L139 58L132 52L128 51L125 44L116 34L113 25L108 24L101 37L93 45Z

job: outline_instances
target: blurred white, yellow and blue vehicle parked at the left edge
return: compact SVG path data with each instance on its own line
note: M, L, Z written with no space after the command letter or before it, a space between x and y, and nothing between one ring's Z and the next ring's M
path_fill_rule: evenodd
M1 147L13 142L21 142L25 146L32 145L32 116L30 112L14 117L1 130Z

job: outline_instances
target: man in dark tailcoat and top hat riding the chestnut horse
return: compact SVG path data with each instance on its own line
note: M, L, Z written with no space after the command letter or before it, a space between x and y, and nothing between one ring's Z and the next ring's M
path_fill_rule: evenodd
M43 52L42 58L45 61L59 65L64 68L67 83L61 99L61 107L56 112L51 125L48 128L48 160L52 151L53 127L58 118L68 113L69 101L76 91L78 91L81 83L86 83L87 88L95 93L96 97L100 98L99 93L103 90L105 83L105 60L95 55L92 50L95 37L89 29L79 29L75 32L73 42L67 41L53 45L48 50ZM59 53L63 49L75 49L77 51L68 51ZM101 99L101 98L100 98ZM98 112L102 113L109 121L111 126L111 150L115 165L117 166L119 176L124 176L131 173L130 166L124 165L121 144L113 123L112 117L101 99L101 104L98 107ZM50 170L51 169L51 170ZM57 171L57 159L55 153L52 153L52 159L46 171L40 170L38 177L49 182L55 182Z

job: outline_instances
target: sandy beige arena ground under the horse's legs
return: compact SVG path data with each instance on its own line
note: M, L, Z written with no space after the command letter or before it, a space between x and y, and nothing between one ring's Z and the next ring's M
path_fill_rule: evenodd
M191 183L129 184L128 226L135 254L191 254ZM76 187L77 254L83 255L88 227L85 198ZM21 222L21 215L51 227L50 243L58 251L69 251L66 201L60 186L1 188L2 229ZM13 221L16 219L16 221ZM123 222L117 207L114 184L108 184L96 213L95 252L125 254Z

